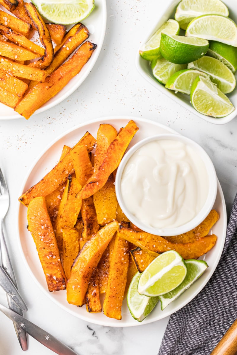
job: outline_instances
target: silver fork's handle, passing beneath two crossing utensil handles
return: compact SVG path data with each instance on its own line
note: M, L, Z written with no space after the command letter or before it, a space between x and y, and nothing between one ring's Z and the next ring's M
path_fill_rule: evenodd
M13 284L17 288L16 278L15 278L15 274L14 274L12 264L10 261L9 252L7 250L6 241L5 241L3 228L2 228L2 223L1 223L1 228L0 228L0 251L1 251L2 267L4 268L7 275L10 277ZM23 316L23 312L22 312L21 308L17 306L17 304L14 302L14 300L9 295L7 295L7 303L8 303L9 308L12 311ZM19 327L17 326L16 323L13 323L13 325L14 325L14 328L16 331L16 336L17 336L18 342L21 345L21 349L23 351L27 350L28 344L27 344L26 332L23 329L19 329Z

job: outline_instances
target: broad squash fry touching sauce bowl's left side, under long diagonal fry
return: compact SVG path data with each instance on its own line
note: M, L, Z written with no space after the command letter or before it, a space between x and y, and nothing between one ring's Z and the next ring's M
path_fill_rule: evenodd
M105 225L116 219L117 198L113 174L109 175L104 186L93 195L98 223Z

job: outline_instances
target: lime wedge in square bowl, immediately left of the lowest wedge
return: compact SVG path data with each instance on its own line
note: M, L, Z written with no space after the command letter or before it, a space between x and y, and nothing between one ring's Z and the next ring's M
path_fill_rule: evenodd
M179 91L183 94L190 95L192 83L199 75L209 79L209 75L195 69L183 69L174 73L166 83L169 90Z

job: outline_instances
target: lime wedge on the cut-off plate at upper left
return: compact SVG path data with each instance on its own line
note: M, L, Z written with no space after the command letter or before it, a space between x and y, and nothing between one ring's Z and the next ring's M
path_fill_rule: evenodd
M94 9L94 0L32 0L37 10L50 22L72 24L84 20Z

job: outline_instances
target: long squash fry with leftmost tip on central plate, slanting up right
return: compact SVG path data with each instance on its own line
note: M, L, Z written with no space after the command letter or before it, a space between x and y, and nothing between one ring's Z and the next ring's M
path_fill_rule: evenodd
M76 149L77 146L85 145L88 152L90 152L92 151L94 144L95 138L89 132L86 132L80 141L75 144L72 150ZM65 157L61 159L60 162L56 164L43 179L41 179L41 181L23 193L23 195L19 197L19 201L25 206L28 206L32 198L49 195L61 184L63 184L68 179L68 175L72 174L73 171L74 166L70 152L68 152Z

